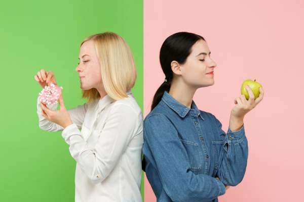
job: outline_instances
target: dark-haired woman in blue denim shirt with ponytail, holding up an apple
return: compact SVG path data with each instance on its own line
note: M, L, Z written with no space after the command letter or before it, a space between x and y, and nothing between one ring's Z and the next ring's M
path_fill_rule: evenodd
M248 143L243 119L263 97L236 97L225 133L220 121L193 101L196 90L214 84L216 63L205 39L179 32L160 51L165 81L144 120L144 165L157 201L218 201L245 174Z

